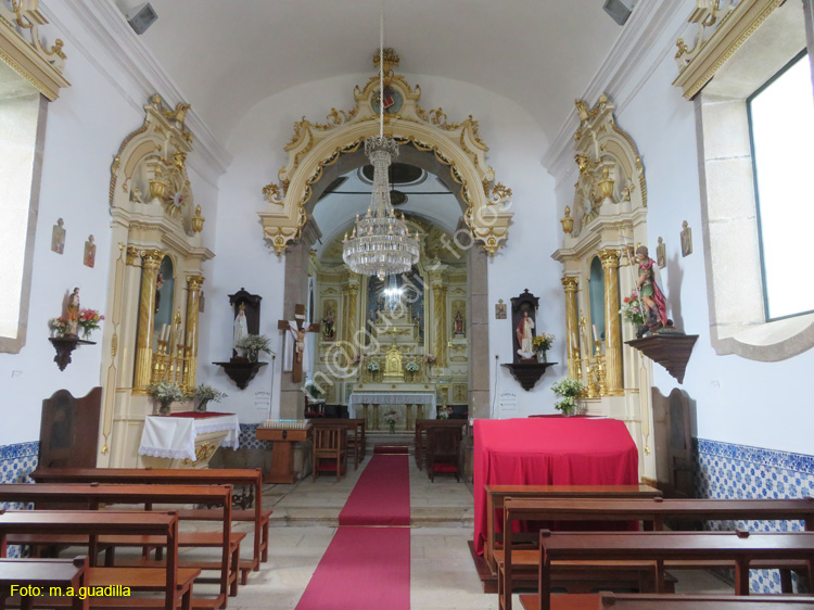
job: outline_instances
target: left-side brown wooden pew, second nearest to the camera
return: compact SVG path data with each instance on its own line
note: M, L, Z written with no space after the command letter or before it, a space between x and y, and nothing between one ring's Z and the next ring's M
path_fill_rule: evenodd
M12 534L72 534L88 537L87 586L122 585L140 592L163 592L163 598L93 597L92 608L164 608L191 610L192 583L200 575L196 568L178 568L178 516L175 512L113 512L106 510L0 510L0 557L5 557L7 541ZM167 560L161 568L97 567L100 536L157 536L163 539ZM208 600L194 600L195 608L212 607ZM36 598L36 608L68 606L65 598Z

